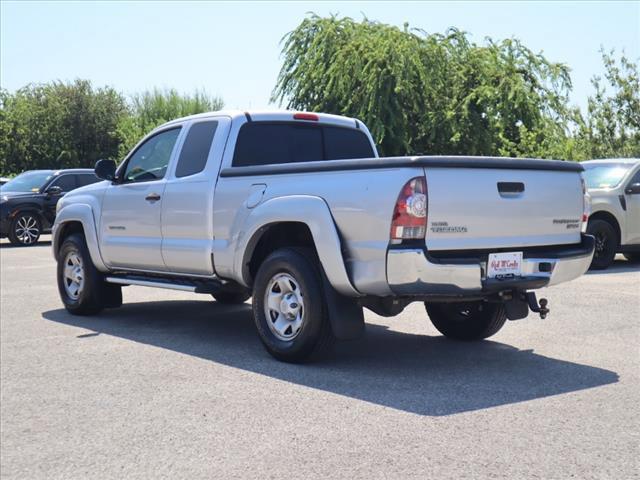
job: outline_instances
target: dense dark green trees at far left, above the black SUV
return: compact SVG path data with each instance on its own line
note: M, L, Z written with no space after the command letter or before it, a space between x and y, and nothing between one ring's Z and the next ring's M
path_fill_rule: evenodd
M0 171L93 167L115 158L124 98L87 80L0 92Z

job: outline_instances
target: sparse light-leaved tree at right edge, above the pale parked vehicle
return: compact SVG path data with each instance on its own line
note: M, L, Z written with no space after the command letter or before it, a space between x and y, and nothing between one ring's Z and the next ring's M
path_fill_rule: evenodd
M640 157L640 73L625 55L601 50L605 81L591 80L587 115L580 117L578 149L583 158Z

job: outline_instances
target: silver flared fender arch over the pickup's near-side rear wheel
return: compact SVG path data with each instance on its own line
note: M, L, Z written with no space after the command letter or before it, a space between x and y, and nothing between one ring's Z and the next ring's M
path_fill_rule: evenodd
M240 230L242 233L234 253L234 270L242 276L245 286L248 286L249 281L243 267L253 255L255 246L266 231L265 227L281 222L305 224L311 231L318 257L331 286L342 295L361 296L349 279L342 258L340 236L329 206L322 198L310 195L276 197L251 210Z

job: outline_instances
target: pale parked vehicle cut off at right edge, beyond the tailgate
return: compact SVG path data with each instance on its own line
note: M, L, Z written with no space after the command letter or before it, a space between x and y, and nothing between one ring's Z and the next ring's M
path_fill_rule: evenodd
M582 162L591 214L587 233L596 238L591 268L607 268L616 253L640 261L640 159Z

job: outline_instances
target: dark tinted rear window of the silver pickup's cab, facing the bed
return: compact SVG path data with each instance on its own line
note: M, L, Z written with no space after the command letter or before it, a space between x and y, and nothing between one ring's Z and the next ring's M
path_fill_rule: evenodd
M326 125L250 122L240 128L233 166L373 156L369 139L359 130Z

